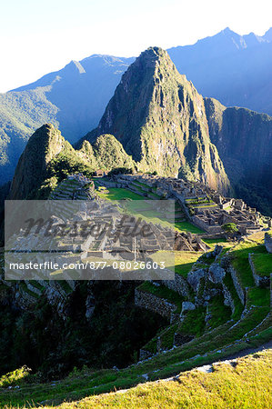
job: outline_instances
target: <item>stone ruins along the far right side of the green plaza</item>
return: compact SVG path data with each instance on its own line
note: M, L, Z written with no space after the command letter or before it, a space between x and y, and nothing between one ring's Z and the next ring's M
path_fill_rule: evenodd
M138 174L114 175L108 182L103 183L129 189L151 199L174 198L186 214L186 218L208 234L225 234L222 225L228 223L237 224L239 234L242 235L257 232L262 228L260 223L262 215L255 208L248 206L241 199L226 198L198 182ZM139 185L142 192L138 190ZM269 226L271 220L266 220L265 223Z

